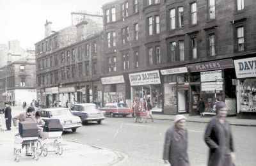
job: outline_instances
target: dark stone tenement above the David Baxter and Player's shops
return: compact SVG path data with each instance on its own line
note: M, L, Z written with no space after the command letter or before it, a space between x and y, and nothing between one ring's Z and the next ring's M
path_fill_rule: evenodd
M153 111L256 117L256 2L118 0L103 10L104 103L150 98Z

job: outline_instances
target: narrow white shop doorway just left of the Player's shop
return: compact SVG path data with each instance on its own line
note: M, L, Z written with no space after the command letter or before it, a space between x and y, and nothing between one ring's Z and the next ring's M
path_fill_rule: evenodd
M188 91L179 90L178 91L178 111L179 113L188 112Z

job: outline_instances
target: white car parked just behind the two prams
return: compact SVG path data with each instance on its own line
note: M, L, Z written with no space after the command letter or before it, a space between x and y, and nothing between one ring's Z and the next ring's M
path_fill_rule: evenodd
M60 119L63 130L71 129L72 132L76 132L76 129L82 126L81 119L74 116L69 109L64 107L42 109L41 117L44 121L46 119Z

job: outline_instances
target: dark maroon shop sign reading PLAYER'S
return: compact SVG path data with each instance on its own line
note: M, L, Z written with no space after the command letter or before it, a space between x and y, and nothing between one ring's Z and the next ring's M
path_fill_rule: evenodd
M189 72L204 72L209 70L220 70L225 68L234 68L232 59L224 59L220 61L211 61L205 63L188 64L186 67Z

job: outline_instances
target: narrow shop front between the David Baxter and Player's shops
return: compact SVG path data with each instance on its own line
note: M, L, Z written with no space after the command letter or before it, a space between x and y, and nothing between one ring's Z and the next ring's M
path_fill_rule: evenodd
M189 83L186 67L161 70L164 86L164 114L186 113L189 110Z

